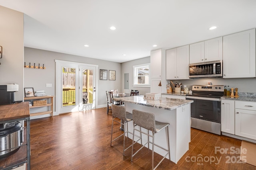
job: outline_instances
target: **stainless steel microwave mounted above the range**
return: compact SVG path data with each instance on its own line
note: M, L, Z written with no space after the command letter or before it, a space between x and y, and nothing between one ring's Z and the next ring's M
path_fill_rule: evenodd
M189 78L222 77L222 60L189 64Z

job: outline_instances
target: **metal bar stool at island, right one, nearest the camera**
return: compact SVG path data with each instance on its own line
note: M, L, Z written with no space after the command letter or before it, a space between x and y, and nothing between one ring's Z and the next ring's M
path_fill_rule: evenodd
M134 134L134 131L139 131L140 133L148 135L148 138L152 137L152 142L150 142L149 139L148 139L148 141L142 147L140 147L140 149L138 149L134 154L133 154L133 145L134 145L134 143L132 143L131 162L132 162L133 156L136 153L138 153L147 144L148 144L148 149L149 149L149 143L151 143L152 144L152 170L155 170L167 155L169 155L169 159L171 158L170 157L169 129L168 129L169 123L162 123L162 122L159 122L159 121L155 121L155 115L153 113L138 111L138 110L135 110L135 109L132 110L132 117L133 117L133 125L138 125L138 126L143 127L143 128L148 130L148 133L145 133L145 132L142 132L141 129L140 130L135 129L135 126L134 126L133 134ZM160 147L159 145L156 145L154 143L154 135L156 133L158 133L159 131L161 131L162 129L165 129L165 128L167 128L167 138L168 138L167 149L164 149L163 147ZM149 131L152 131L152 135L149 134ZM132 139L134 140L134 135L133 135ZM140 140L142 141L141 138L140 138ZM161 149L163 149L167 152L166 155L162 158L162 160L160 160L160 162L155 167L154 167L154 145L156 147L159 147L159 148L161 148Z

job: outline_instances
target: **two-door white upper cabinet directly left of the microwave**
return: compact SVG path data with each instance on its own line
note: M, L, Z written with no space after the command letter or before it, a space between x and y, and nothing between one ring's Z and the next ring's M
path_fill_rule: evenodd
M166 50L166 80L189 79L189 45Z

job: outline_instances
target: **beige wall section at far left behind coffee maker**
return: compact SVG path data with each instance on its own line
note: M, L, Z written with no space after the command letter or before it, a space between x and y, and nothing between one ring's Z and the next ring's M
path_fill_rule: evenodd
M23 100L23 13L0 6L0 85L18 84L15 100Z

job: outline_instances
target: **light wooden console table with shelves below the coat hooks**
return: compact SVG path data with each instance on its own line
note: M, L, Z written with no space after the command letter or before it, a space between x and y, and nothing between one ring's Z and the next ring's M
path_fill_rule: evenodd
M53 97L54 96L40 96L40 97L28 97L24 98L24 102L26 101L31 101L33 104L34 100L47 100L49 99L50 101L47 100L47 103L45 105L40 105L40 106L29 106L29 108L36 108L36 107L50 107L48 111L42 111L42 112L36 112L36 113L31 113L30 110L30 116L36 116L36 115L44 115L44 114L51 114L51 117L53 116Z

